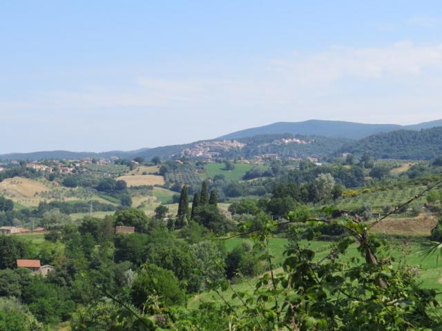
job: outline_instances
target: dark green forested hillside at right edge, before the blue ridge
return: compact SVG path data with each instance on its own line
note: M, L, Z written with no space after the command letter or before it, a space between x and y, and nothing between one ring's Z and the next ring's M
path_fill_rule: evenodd
M442 127L374 134L346 146L345 151L378 159L432 159L442 154Z

